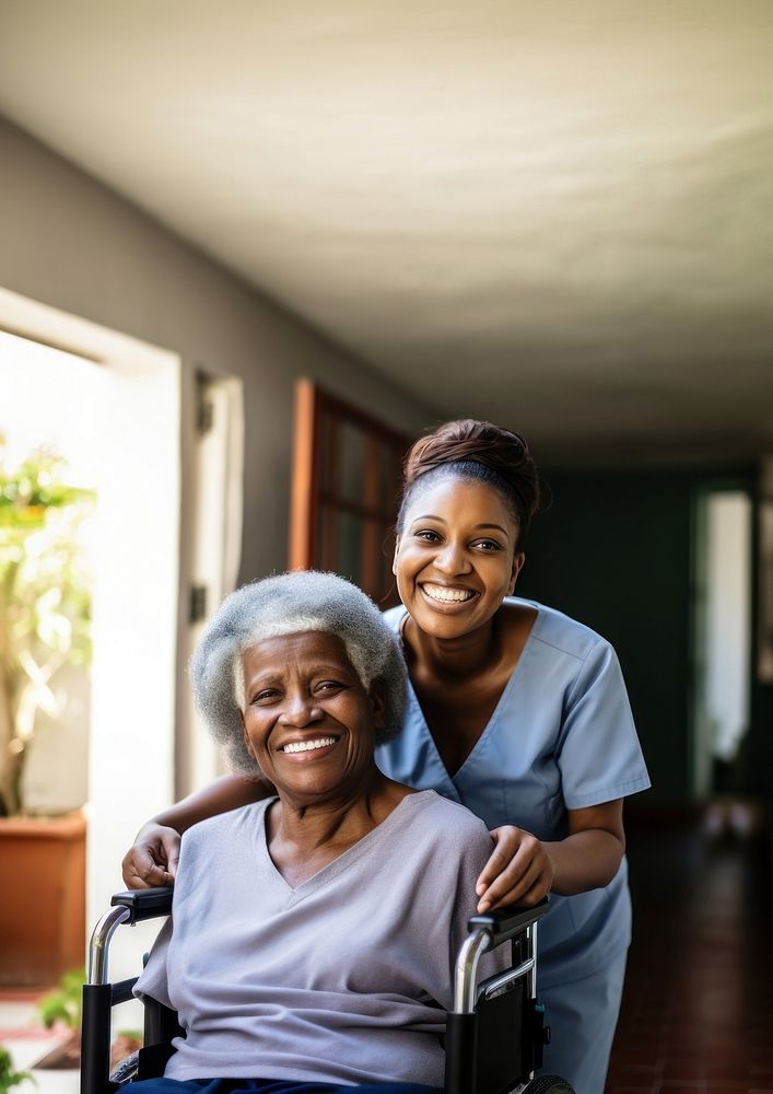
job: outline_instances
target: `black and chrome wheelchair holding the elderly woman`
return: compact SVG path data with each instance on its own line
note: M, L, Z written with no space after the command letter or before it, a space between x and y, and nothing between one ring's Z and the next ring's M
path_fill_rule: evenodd
M144 1002L144 1047L110 1074L112 1008L132 998L137 978L110 984L109 943L121 924L168 916L172 888L118 893L94 928L83 986L81 1094L114 1094L120 1086L163 1074L183 1036L174 1011L153 999ZM547 898L532 908L514 906L473 916L456 959L454 1009L445 1034L445 1094L573 1094L557 1075L534 1076L550 1040L537 1001L537 921ZM478 982L487 950L510 943L511 967Z

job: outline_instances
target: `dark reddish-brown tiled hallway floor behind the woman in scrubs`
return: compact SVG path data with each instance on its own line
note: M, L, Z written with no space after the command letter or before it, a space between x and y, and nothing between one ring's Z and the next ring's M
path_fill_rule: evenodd
M773 1092L773 883L753 808L626 823L634 943L608 1094Z

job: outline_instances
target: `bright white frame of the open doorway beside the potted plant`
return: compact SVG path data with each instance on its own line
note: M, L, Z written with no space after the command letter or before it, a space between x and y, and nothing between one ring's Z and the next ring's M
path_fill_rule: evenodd
M4 290L0 327L40 352L59 350L62 369L73 366L68 354L75 354L96 370L98 398L81 427L96 455L97 491L87 761L86 920L93 923L121 887L120 860L134 831L174 794L180 361ZM13 392L3 379L0 406L11 404ZM46 396L38 389L34 405ZM68 412L62 404L59 414ZM114 951L117 979L136 970L137 950L150 936L127 933L130 956L120 941Z

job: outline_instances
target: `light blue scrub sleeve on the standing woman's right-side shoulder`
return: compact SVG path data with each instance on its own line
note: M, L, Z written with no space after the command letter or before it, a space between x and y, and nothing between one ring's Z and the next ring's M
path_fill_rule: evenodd
M649 787L620 663L604 639L582 662L567 693L557 763L570 810Z

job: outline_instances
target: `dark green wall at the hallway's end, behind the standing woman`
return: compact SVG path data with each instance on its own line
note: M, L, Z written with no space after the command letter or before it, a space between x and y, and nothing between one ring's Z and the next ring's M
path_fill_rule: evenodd
M647 804L690 802L693 499L729 476L664 470L546 479L552 498L535 520L517 591L612 642L653 780ZM751 485L749 475L731 481ZM770 694L753 689L754 719L770 709ZM745 753L764 754L754 732ZM758 782L770 790L765 778Z

